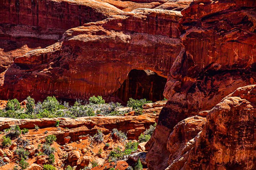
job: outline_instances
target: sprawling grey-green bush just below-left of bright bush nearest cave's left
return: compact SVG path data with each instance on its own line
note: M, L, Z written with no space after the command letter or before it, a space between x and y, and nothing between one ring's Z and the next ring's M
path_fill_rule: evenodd
M75 117L94 116L93 109L82 105L81 102L76 101L75 104L70 108L70 112Z

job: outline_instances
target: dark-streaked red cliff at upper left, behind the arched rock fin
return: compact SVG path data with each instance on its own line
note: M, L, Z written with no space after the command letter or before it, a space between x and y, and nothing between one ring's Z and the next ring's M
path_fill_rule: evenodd
M15 57L52 45L67 29L119 12L110 4L94 0L0 1L0 72Z

